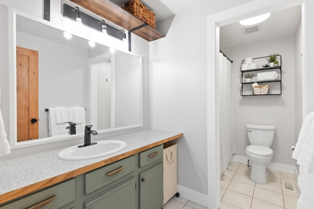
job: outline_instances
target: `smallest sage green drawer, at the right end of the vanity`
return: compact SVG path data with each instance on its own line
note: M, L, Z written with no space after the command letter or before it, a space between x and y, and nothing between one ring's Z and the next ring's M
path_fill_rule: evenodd
M153 163L157 160L162 159L163 156L163 145L151 148L139 154L139 166L144 167L149 163Z

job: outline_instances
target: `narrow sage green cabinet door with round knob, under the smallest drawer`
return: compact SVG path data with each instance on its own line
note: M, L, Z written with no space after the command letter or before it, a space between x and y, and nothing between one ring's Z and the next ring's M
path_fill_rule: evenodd
M140 209L161 209L163 203L162 162L139 174Z

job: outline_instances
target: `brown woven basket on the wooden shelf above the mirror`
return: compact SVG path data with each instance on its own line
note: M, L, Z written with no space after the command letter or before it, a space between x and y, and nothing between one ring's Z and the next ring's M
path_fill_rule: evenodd
M128 2L122 4L121 7L143 22L148 23L153 28L156 27L155 14L139 0L129 0Z

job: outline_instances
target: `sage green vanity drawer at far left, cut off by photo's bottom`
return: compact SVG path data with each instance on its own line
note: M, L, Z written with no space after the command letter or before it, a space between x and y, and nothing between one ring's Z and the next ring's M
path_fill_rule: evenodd
M71 179L0 207L0 209L59 209L75 199L75 179Z

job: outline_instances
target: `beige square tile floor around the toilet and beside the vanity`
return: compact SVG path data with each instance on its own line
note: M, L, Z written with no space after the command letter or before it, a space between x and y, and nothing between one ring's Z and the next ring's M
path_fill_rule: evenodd
M293 174L268 170L266 184L250 179L251 168L246 164L232 163L220 180L219 209L296 209L300 195ZM294 191L287 190L283 182L293 184ZM207 209L192 201L174 196L163 209Z

